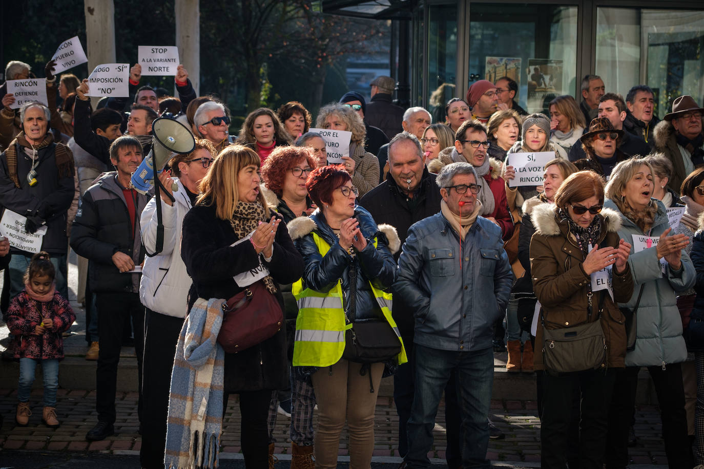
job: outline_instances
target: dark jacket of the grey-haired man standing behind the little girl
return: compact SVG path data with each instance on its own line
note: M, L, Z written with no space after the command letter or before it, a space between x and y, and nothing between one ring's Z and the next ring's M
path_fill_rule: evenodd
M132 191L132 200L125 200L116 176L115 172L104 174L84 193L73 220L71 248L88 259L94 293L139 293L140 274L121 274L112 257L121 251L132 257L135 265L144 260L139 216L149 197ZM128 203L134 205L134 229L130 226Z

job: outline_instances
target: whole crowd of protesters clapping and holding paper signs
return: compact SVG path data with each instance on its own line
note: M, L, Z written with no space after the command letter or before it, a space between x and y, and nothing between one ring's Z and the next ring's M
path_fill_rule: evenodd
M225 103L170 66L177 96L144 85L139 63L90 79L56 60L44 79L6 65L0 267L18 425L35 418L37 364L42 421L61 425L74 250L97 362L86 439L115 432L131 337L142 468L216 467L230 394L247 468L274 467L279 412L292 468L337 467L345 425L350 466L369 468L391 375L403 467L430 465L444 398L448 467L489 468L507 349L509 373L535 376L543 468L627 466L641 368L670 467L704 467L702 96L660 120L647 84L624 98L587 75L579 102L558 96L546 115L502 77L433 122L380 76L371 101L350 91L315 120L297 101L260 108L234 135Z

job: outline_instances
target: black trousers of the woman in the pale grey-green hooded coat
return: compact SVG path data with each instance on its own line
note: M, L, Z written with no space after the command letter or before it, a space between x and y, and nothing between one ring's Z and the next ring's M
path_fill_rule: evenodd
M628 464L628 430L636 405L635 389L638 384L638 366L627 366L617 372L615 391L609 410L609 428L605 463L608 469L623 469ZM684 385L679 363L648 366L650 378L658 394L662 439L670 468L693 468L694 457L687 437L687 416L684 410Z

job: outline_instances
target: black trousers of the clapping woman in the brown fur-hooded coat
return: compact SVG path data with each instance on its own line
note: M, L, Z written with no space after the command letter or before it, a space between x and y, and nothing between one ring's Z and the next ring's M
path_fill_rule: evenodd
M543 416L541 420L541 467L565 468L570 453L570 432L575 388L580 396L579 467L603 466L608 404L614 387L613 370L575 373L543 373Z

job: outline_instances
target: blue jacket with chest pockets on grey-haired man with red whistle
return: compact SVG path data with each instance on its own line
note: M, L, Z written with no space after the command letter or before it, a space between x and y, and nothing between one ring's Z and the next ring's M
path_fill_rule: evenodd
M498 226L477 217L460 248L460 237L438 213L408 230L393 291L415 305L415 343L469 352L491 347L511 283Z

